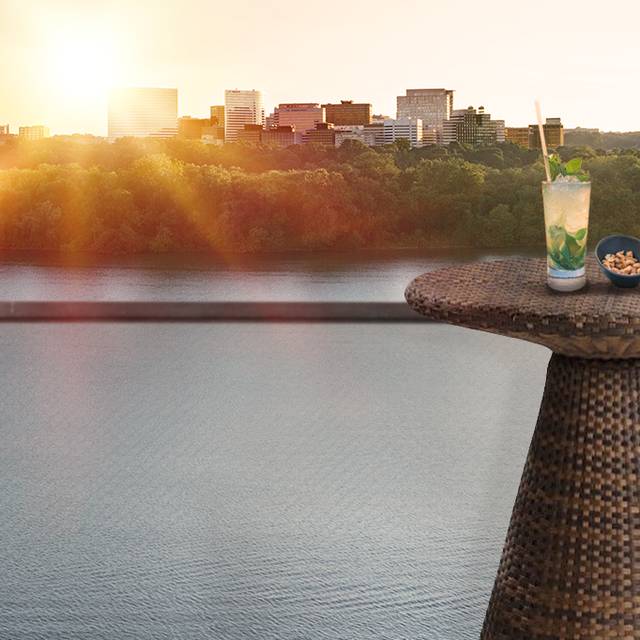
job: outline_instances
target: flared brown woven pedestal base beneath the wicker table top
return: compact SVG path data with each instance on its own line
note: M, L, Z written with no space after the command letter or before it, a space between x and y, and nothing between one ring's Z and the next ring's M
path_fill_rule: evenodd
M640 360L554 354L482 640L640 640Z

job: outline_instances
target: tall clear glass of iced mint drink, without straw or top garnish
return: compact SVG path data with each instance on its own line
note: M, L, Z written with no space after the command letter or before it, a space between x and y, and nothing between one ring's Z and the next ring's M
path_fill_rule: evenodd
M587 251L591 182L542 183L547 236L547 284L556 291L577 291L587 283Z

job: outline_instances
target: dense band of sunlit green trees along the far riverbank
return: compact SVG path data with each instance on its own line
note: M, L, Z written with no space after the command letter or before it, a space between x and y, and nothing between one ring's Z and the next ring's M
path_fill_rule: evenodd
M562 148L593 182L590 238L640 236L640 152ZM183 140L0 145L0 249L162 253L544 245L539 154Z

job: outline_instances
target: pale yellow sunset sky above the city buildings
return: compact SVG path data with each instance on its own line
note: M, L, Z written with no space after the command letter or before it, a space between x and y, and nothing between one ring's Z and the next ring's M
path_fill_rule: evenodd
M200 116L225 88L278 102L455 89L507 125L640 130L635 2L0 0L0 124L106 133L110 86L179 90Z

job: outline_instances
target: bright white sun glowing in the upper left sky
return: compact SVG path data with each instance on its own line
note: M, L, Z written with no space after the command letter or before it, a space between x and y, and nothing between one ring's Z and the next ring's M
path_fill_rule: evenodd
M61 97L93 99L114 80L115 51L106 34L59 34L49 48L50 79Z

